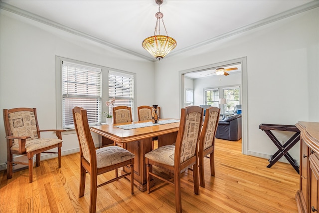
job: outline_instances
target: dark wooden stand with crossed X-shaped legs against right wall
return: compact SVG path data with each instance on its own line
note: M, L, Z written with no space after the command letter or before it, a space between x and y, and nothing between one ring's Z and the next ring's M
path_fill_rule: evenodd
M265 131L268 137L278 148L278 151L274 155L270 156L268 160L270 164L267 167L272 167L281 157L285 156L285 158L299 174L299 166L297 164L297 161L294 160L293 157L291 157L288 151L300 140L300 130L295 125L281 124L261 124L259 125L259 129ZM290 131L296 133L284 145L282 145L270 130Z

